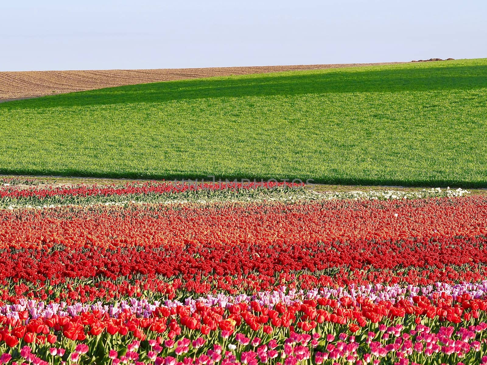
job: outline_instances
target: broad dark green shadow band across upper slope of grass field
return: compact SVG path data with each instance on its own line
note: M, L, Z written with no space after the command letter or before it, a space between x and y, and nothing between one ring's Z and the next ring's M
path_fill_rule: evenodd
M172 100L346 92L469 90L487 86L487 65L299 72L166 81L0 104L0 109L161 103Z

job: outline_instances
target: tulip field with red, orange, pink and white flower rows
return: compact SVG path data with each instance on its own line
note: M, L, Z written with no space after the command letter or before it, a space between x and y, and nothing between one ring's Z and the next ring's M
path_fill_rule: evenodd
M487 364L487 195L0 182L0 364Z

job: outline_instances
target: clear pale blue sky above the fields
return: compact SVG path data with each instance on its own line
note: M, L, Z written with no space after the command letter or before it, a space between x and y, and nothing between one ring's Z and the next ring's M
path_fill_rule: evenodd
M0 0L0 71L487 57L485 0Z

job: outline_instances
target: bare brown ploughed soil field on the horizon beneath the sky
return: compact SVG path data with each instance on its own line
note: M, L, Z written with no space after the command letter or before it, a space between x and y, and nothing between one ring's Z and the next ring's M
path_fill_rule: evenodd
M182 80L211 76L243 75L250 73L391 65L398 63L405 62L211 67L200 69L0 72L0 102L65 92L94 90L158 81Z

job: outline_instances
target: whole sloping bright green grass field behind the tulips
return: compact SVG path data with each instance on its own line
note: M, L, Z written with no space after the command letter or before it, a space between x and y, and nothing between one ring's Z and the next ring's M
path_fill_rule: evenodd
M0 104L0 173L487 186L487 59Z

